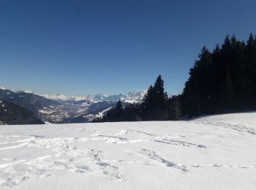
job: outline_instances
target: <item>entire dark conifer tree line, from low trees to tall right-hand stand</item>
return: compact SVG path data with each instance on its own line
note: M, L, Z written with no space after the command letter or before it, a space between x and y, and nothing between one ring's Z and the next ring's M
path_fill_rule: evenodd
M250 34L244 42L233 35L213 51L201 49L182 94L168 97L159 75L140 104L119 101L94 122L178 120L255 109L256 37Z

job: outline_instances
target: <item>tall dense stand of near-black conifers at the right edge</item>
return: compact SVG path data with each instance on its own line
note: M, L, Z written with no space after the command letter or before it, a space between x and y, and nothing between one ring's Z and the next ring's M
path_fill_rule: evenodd
M189 117L256 109L256 39L227 36L222 47L203 47L189 72L181 110Z

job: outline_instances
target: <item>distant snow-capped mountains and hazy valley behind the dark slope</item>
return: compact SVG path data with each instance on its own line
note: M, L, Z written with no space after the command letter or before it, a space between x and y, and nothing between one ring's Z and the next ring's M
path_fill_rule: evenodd
M100 117L116 106L121 99L137 103L146 91L132 91L117 95L65 96L63 94L35 94L34 91L11 91L0 87L0 99L30 110L42 121L50 123L84 123ZM124 103L125 104L125 103Z

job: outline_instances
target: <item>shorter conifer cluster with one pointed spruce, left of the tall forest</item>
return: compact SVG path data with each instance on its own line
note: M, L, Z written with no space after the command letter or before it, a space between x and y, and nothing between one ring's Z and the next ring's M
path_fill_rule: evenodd
M167 96L164 81L159 75L140 104L126 104L124 107L119 100L116 107L102 118L95 118L94 122L178 120L180 107L177 96Z

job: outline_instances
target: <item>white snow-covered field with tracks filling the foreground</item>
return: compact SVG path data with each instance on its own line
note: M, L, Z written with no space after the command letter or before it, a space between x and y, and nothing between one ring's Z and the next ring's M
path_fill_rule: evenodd
M256 189L256 113L0 126L0 189Z

